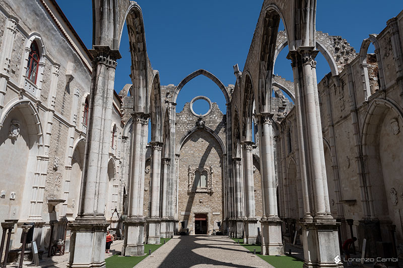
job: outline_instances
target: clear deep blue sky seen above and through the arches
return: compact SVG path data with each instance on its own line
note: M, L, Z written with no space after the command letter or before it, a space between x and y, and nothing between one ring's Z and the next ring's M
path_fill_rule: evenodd
M90 0L57 0L66 17L88 48L92 47L92 6ZM262 0L150 1L139 0L143 10L148 55L159 70L161 84L177 85L197 69L215 74L224 85L235 84L232 66L243 69ZM380 4L382 3L382 4ZM203 5L202 5L203 4ZM379 33L386 21L403 9L403 1L388 0L318 0L316 29L341 35L358 52L362 40ZM292 79L287 49L279 55L275 74ZM116 69L115 90L131 83L127 32L120 46L122 59ZM317 57L318 81L330 71L323 56ZM204 95L217 102L225 113L225 99L219 88L204 76L185 85L179 94L177 112L186 102ZM203 104L204 101L198 101ZM203 105L196 112L203 113Z

